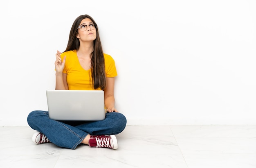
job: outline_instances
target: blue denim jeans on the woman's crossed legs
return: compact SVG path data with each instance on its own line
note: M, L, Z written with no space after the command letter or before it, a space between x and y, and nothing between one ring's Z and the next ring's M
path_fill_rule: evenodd
M48 111L32 111L27 117L29 126L43 133L57 146L75 149L86 135L115 135L126 127L126 117L117 112L106 113L101 121L56 121Z

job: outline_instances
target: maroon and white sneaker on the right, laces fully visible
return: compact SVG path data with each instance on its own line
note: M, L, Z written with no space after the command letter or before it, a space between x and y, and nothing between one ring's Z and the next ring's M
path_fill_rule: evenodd
M115 135L91 135L89 146L97 148L117 149L117 138Z

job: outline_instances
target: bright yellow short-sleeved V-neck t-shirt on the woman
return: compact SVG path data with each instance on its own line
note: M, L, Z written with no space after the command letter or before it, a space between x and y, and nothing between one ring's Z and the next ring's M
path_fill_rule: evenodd
M90 70L84 70L79 63L76 50L63 52L61 59L66 56L63 73L67 74L67 85L69 90L94 90L90 83ZM114 59L104 54L106 77L117 76ZM97 90L100 90L98 88Z

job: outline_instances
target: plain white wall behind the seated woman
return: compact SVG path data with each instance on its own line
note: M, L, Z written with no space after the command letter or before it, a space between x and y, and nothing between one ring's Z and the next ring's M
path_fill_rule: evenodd
M79 15L116 62L128 124L256 124L255 0L0 2L0 125L47 110L56 50Z

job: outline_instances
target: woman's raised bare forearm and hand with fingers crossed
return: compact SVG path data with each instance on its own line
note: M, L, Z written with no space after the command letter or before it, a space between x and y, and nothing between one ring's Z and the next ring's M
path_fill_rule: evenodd
M66 56L61 61L61 53L57 50L56 61L55 61L55 70L56 70L56 83L55 90L68 90L67 85L67 74L62 73L66 61Z

